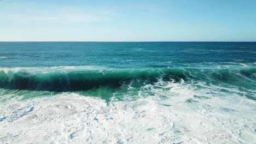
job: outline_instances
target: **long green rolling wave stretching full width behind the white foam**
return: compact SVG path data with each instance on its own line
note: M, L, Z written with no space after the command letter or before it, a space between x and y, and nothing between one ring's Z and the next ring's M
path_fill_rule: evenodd
M0 87L34 91L87 91L102 87L120 88L131 82L142 85L159 80L187 83L203 81L211 85L256 87L256 68L243 69L123 69L123 70L69 70L31 73L30 70L0 71Z

